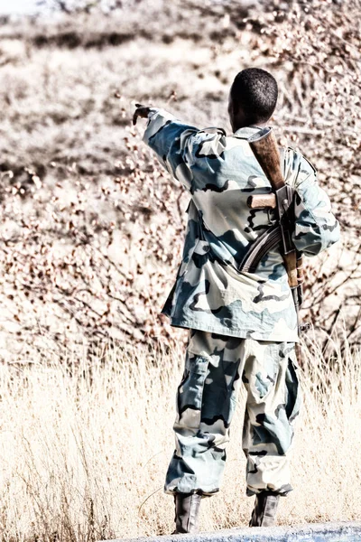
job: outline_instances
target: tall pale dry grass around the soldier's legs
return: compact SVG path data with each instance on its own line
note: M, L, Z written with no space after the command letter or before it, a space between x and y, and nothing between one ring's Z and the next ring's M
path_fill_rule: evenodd
M322 358L303 347L304 403L293 491L280 524L361 515L361 355ZM338 351L337 344L335 351ZM183 351L99 352L0 370L1 540L91 541L171 532L164 474ZM203 500L200 528L245 526L241 428L245 397L228 445L222 491Z

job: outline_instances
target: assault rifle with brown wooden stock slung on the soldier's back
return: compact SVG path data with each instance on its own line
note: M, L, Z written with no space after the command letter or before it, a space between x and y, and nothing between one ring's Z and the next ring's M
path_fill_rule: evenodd
M250 273L255 272L265 254L280 247L296 308L298 329L301 332L309 329L310 324L301 325L299 322L299 309L303 301L303 263L301 252L296 250L292 243L294 191L290 185L284 182L280 152L272 128L263 128L260 132L252 135L248 139L248 143L273 189L273 192L269 194L250 196L247 201L248 207L251 209L264 209L265 207L275 209L276 221L255 243L252 243L238 269Z

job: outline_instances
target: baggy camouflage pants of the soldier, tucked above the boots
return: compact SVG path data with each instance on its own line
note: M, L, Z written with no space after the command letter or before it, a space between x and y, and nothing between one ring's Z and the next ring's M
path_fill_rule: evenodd
M241 380L247 392L246 493L292 491L289 452L301 403L294 343L190 330L166 493L219 491Z

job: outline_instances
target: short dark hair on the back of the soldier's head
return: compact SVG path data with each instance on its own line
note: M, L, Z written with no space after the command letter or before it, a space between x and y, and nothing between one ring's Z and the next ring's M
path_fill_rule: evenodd
M277 82L268 71L248 68L237 73L230 96L235 113L241 108L250 123L267 122L276 107Z

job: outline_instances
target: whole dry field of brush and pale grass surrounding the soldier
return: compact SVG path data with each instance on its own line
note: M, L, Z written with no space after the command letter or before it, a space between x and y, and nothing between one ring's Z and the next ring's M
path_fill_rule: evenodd
M159 311L187 194L130 121L141 101L229 131L227 92L249 66L279 80L280 143L318 168L343 234L308 264L295 491L279 522L359 519L360 2L123 4L0 25L0 540L170 532L186 332ZM247 523L243 407L203 530Z

